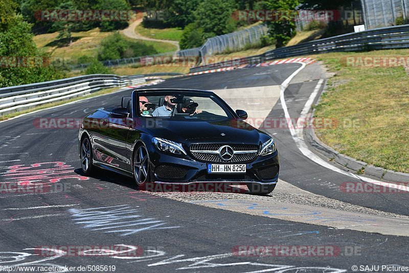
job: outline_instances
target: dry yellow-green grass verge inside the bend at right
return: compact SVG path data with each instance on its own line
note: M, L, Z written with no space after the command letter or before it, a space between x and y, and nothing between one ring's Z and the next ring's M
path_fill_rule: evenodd
M338 152L385 169L409 173L409 75L399 67L353 67L345 57L405 57L409 50L331 53L315 56L335 76L315 116L338 121L317 129Z

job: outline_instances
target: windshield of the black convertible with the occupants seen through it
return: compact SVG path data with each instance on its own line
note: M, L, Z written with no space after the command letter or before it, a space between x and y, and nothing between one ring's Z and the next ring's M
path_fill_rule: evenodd
M224 120L233 118L216 97L198 93L138 93L139 114L146 118Z

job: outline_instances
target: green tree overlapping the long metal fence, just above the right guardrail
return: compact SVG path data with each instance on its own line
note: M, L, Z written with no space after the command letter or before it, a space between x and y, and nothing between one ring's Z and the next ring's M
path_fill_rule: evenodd
M293 11L299 4L298 0L268 0L265 2L265 8L273 11ZM267 21L267 26L270 37L276 40L276 48L284 47L296 35L296 24L290 17L281 16L279 20Z

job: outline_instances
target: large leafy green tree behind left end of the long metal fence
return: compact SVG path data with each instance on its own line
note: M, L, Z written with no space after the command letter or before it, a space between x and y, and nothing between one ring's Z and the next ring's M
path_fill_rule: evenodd
M203 38L235 31L236 21L232 17L234 6L234 2L223 0L204 0L199 4L196 23L203 29Z

